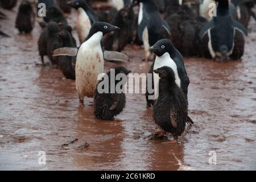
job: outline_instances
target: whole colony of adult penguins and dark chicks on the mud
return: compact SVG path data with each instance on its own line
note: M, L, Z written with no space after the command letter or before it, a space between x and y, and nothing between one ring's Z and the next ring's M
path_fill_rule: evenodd
M0 6L10 10L16 2L1 0ZM183 56L215 61L241 59L249 20L256 20L253 0L109 0L112 7L108 12L94 12L92 1L86 0L38 0L36 7L31 2L19 3L15 27L20 34L28 34L38 19L42 27L38 39L42 65L46 65L47 56L65 78L76 80L80 104L84 106L84 97L93 97L98 119L113 120L126 105L124 93L98 92L103 77L100 81L97 77L104 71L104 61L122 62L125 55L118 52L127 44L144 48L145 60L152 61L148 73L155 88L154 93L146 93L147 106L152 106L156 125L175 140L187 124L193 123L188 116L190 81ZM39 3L46 5L47 15L43 18L35 17ZM209 15L212 6L217 7L214 16ZM72 9L77 11L79 47L64 15ZM5 18L0 12L0 19ZM0 35L9 37L1 30ZM115 67L114 71L115 75L126 76L131 72L124 67ZM110 76L110 72L106 75ZM159 97L148 99L154 94Z

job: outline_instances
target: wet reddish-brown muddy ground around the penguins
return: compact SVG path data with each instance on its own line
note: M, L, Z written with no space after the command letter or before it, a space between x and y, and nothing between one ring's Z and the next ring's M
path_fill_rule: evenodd
M92 99L79 107L75 82L61 72L42 67L37 40L40 28L19 35L16 10L4 11L0 38L0 169L135 169L222 170L256 169L256 23L251 20L242 61L216 63L185 59L189 86L187 127L177 143L150 140L156 130L152 109L143 94L127 94L127 106L118 118L94 118ZM69 15L75 26L76 13ZM127 46L134 73L147 73L143 49ZM105 71L115 67L106 63ZM46 152L46 165L38 152ZM209 151L217 154L210 165Z

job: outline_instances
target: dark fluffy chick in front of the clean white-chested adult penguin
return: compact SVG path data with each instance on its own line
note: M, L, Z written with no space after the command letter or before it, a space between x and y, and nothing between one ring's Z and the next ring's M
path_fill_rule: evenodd
M176 140L185 130L188 117L188 102L175 82L175 73L170 67L161 67L154 72L159 75L159 97L153 107L155 123Z

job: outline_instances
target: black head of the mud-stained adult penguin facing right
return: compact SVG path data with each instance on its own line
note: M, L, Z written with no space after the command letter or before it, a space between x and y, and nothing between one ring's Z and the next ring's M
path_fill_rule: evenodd
M89 34L95 34L97 32L102 32L103 35L108 34L109 32L112 31L117 31L120 30L119 27L114 26L112 24L106 23L106 22L95 22L90 28L90 33Z

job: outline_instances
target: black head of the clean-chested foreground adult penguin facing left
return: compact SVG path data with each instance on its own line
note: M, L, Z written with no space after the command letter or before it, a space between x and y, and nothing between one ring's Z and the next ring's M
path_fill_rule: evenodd
M171 52L174 49L174 44L172 44L169 39L158 40L154 46L150 48L150 52L154 52L156 56L161 57L166 52Z

